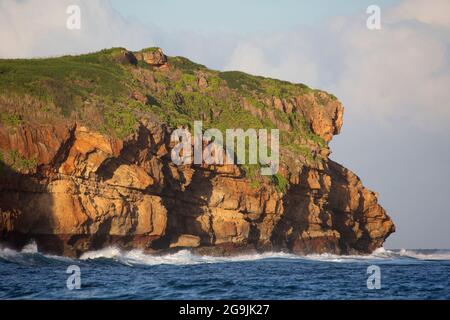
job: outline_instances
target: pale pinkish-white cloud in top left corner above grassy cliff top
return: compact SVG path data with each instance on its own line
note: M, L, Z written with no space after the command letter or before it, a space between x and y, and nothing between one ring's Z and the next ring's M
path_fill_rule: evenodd
M81 8L81 29L69 30L69 5ZM54 56L112 46L154 44L156 27L124 19L106 0L1 0L0 58Z

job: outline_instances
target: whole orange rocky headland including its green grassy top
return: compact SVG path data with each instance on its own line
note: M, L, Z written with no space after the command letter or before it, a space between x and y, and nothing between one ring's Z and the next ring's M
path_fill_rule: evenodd
M377 195L329 159L343 107L326 92L156 48L0 60L0 89L2 245L349 254L394 231ZM176 166L170 133L193 120L279 128L279 173Z

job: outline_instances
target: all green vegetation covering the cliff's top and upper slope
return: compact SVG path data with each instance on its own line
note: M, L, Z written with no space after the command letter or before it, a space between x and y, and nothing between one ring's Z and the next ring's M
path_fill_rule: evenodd
M193 121L202 120L204 130L218 128L224 134L228 128L279 128L281 152L289 150L308 161L315 160L312 149L326 146L300 112L278 110L271 101L307 94L321 105L336 99L330 94L239 71L210 70L183 57L168 57L168 68L151 67L136 57L137 63L124 48L112 48L80 56L0 59L0 122L15 127L33 121L78 121L125 138L144 116L157 117L174 128L190 128ZM201 88L200 73L207 80ZM15 168L36 165L17 153L3 159ZM241 167L252 187L258 188L263 179L260 166ZM271 181L280 192L287 188L280 175Z

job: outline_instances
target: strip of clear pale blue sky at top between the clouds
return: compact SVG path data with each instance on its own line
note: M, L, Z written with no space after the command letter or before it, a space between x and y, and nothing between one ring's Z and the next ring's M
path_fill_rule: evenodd
M373 1L372 1L373 2ZM297 25L323 23L336 15L363 12L365 0L112 0L125 17L152 21L165 30L190 29L225 33L282 32ZM380 0L379 5L395 3Z

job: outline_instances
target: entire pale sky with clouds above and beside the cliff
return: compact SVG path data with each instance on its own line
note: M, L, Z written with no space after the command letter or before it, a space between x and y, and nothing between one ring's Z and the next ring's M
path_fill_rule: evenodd
M66 28L71 4L80 30ZM450 248L449 12L448 0L0 0L0 58L160 46L327 90L345 106L331 158L379 193L397 226L385 247Z

